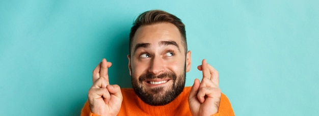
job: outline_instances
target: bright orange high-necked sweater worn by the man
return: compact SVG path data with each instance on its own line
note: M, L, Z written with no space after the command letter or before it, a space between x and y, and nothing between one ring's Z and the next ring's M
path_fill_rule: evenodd
M118 115L192 115L188 96L191 87L185 87L183 92L172 102L163 106L151 106L144 103L133 89L121 89L123 102ZM89 102L87 101L82 109L81 115L95 116L91 113ZM228 98L222 94L218 113L214 115L235 115Z

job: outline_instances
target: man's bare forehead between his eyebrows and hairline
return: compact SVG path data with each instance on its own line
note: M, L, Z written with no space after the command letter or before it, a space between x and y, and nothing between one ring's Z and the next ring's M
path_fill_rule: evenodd
M161 41L175 41L181 46L181 40L181 34L174 24L156 23L138 28L133 37L132 48L140 43L157 44Z

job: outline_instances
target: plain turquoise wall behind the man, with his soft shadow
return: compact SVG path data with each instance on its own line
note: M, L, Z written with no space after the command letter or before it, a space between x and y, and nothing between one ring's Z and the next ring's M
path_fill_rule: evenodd
M128 34L142 12L186 25L192 70L220 73L236 115L319 114L319 1L0 1L0 114L79 115L103 57L129 88Z

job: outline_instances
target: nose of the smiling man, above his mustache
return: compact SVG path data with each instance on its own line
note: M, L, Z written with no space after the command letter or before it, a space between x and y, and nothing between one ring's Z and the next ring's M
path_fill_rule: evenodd
M148 72L158 75L164 72L164 62L161 58L161 56L153 57L150 63L150 68L148 69Z

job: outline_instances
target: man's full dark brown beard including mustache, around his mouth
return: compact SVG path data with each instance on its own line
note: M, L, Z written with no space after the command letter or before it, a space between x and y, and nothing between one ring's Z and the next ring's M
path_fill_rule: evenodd
M185 75L186 72L178 75L173 72L166 72L161 75L155 76L152 73L144 73L139 77L139 80L136 77L131 76L131 82L134 92L140 97L142 101L149 105L159 106L166 105L173 101L184 89L185 86ZM148 91L143 86L143 81L147 79L159 78L163 79L169 77L169 81L173 81L172 85L161 86Z

